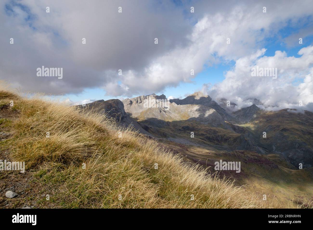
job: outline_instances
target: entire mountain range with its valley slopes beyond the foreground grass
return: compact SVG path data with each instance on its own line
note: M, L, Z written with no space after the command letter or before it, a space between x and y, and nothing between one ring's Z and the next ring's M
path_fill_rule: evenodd
M257 99L253 102L262 104ZM225 101L217 103L196 92L184 99L151 94L123 101L98 100L85 109L131 125L186 162L220 177L233 177L238 186L248 184L251 192L309 201L313 197L313 113L288 108L268 111L256 104L232 111ZM214 170L220 160L240 161L241 172Z

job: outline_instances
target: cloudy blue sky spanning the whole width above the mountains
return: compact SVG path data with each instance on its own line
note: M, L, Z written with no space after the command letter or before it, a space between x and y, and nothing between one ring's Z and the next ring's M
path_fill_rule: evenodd
M234 109L313 111L312 1L2 0L0 22L0 79L24 92L80 104L202 91Z

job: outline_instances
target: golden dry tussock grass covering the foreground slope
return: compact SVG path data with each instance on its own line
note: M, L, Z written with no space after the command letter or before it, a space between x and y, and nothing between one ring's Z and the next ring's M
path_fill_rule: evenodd
M58 207L277 207L187 165L153 140L119 129L104 115L0 88L0 100L6 98L13 98L19 111L6 141L12 158L25 161L27 169L38 168L34 176Z

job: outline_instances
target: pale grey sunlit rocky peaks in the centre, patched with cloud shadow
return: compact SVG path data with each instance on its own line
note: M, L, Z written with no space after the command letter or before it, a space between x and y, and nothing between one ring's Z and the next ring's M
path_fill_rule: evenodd
M146 100L162 100L159 106L152 104L151 107L145 105ZM210 124L213 127L222 126L230 129L230 126L224 122L227 118L234 117L223 110L208 95L196 92L183 100L171 99L165 105L165 95L151 94L131 99L123 100L125 111L128 115L136 118L138 121L144 121L154 126L160 126L164 121L196 120Z

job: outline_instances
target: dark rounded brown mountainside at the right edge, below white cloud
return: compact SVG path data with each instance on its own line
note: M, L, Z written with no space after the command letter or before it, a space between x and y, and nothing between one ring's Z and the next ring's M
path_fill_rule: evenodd
M298 169L300 163L304 168L313 166L312 112L283 109L261 113L251 127L270 152L285 156Z

